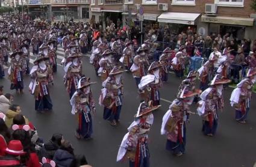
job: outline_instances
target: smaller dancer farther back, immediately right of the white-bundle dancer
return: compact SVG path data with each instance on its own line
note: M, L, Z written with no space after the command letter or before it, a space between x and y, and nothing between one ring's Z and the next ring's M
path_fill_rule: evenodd
M161 76L161 80L162 82L167 82L168 80L168 59L169 59L169 54L172 53L172 49L170 49L169 47L166 47L166 49L163 50L162 55L159 58L159 63L161 65L160 68L160 76Z

